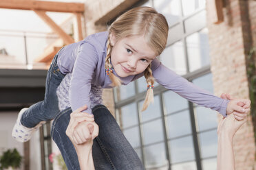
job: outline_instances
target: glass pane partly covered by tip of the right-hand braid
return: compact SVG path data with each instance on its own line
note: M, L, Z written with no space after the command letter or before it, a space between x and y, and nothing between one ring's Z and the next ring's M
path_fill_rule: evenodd
M149 104L149 107L144 112L140 112L142 122L149 121L161 117L160 99L159 95L153 97L153 104ZM140 101L140 110L142 108L143 101Z

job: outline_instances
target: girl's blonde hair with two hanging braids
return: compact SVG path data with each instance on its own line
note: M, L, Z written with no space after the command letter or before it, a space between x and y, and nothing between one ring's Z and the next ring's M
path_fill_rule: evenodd
M147 45L159 56L167 45L168 23L165 17L150 7L133 8L116 19L108 31L113 34L116 42L128 36L144 36ZM107 56L105 59L105 69L111 68L111 43L107 39ZM151 64L144 71L146 82L153 86L154 78L151 71ZM114 73L109 71L109 77L113 86L120 86L121 81ZM153 89L148 88L142 111L146 110L149 104L153 102Z

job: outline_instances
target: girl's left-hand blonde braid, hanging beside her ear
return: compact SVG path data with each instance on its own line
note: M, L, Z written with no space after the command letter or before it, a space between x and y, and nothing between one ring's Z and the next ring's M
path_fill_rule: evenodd
M111 57L111 49L112 46L110 45L110 40L109 37L107 38L107 56L105 59L105 69L112 68L112 65L110 64L110 57ZM121 85L121 80L114 75L111 71L109 71L109 78L112 82L112 86L120 86Z

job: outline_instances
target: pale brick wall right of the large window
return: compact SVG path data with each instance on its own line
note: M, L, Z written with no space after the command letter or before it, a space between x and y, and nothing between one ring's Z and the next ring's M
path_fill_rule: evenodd
M206 3L215 95L228 93L236 98L249 98L246 77L246 56L251 46L248 4L247 1L224 0L224 5L224 22L214 25L209 22L209 10L213 6ZM254 9L251 13L255 15ZM251 118L235 134L233 146L236 169L253 169L255 139Z

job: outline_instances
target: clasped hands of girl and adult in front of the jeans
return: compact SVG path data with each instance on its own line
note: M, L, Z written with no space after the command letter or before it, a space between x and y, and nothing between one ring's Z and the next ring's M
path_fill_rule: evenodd
M70 123L67 126L66 134L75 147L86 141L92 141L98 136L98 125L94 122L94 116L81 112L85 109L87 106L78 108L70 114Z

